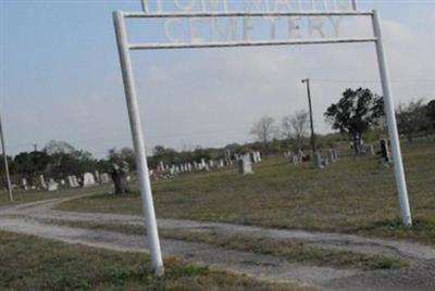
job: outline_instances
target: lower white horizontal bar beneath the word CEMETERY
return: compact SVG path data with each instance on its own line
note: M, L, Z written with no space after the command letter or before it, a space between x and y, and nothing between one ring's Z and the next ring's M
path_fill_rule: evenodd
M161 50L161 49L196 49L196 48L228 48L228 47L262 47L286 45L324 45L347 42L373 42L377 39L370 38L335 38L335 39L287 39L287 40L258 40L258 41L228 41L207 43L129 43L130 50Z

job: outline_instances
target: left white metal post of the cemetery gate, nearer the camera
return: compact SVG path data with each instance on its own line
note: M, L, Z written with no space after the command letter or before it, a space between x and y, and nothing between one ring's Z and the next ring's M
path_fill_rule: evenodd
M152 201L151 185L147 165L144 134L140 124L139 104L137 102L133 67L129 58L129 48L125 30L125 20L121 11L113 12L116 42L120 52L121 69L124 81L125 99L136 153L136 164L139 175L140 197L147 226L148 248L151 255L151 268L157 276L164 273L162 253L160 250L159 233L156 222L154 204Z

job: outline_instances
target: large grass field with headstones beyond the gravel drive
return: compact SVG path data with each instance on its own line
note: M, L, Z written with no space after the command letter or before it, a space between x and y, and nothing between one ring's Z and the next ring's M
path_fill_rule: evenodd
M398 227L393 168L374 157L344 157L319 170L284 157L254 166L185 175L153 182L159 217L226 222L276 228L359 232L435 243L435 143L405 143L405 167L415 228ZM62 210L140 214L139 195L71 201Z

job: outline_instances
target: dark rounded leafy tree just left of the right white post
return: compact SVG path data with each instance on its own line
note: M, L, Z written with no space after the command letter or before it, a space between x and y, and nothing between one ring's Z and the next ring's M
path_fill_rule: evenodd
M327 107L324 115L333 129L353 141L356 154L359 154L362 135L378 125L384 115L383 104L382 98L373 94L370 89L347 89L337 103Z

